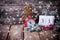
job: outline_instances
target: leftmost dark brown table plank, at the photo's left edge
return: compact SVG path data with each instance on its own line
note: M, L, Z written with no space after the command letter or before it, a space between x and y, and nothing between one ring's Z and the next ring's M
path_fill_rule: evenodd
M9 25L0 26L0 40L6 40L9 31Z

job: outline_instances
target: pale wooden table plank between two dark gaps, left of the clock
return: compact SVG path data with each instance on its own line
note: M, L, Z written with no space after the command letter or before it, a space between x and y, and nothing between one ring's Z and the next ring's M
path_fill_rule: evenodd
M23 26L22 25L12 25L9 36L11 40L22 40L22 32Z

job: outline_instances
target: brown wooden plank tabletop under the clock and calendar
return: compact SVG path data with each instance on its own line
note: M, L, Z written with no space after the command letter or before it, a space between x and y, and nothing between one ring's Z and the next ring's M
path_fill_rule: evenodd
M0 40L57 40L54 38L56 35L53 30L29 32L25 28L23 30L23 25L0 26Z

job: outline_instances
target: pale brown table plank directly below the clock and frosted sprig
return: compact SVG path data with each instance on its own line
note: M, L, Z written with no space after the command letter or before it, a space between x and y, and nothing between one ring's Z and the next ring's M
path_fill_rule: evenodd
M38 32L29 32L24 29L24 40L40 40Z

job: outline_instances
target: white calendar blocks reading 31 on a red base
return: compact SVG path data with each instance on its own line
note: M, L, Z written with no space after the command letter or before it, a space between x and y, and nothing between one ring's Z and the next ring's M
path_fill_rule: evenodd
M39 25L43 26L49 26L51 24L54 24L54 16L45 16L45 15L40 15L39 16Z

